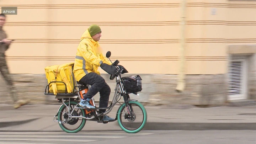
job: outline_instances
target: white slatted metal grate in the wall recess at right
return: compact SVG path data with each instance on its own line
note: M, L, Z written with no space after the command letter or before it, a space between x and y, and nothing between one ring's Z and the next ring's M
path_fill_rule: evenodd
M243 87L243 62L234 61L229 65L229 95L241 95Z

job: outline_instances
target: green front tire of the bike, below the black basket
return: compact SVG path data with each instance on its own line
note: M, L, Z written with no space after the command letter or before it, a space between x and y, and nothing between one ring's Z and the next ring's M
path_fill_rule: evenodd
M146 109L145 107L142 105L142 103L138 102L138 101L129 101L129 104L135 104L137 106L139 106L143 112L143 122L142 122L142 125L138 128L138 129L135 129L135 130L129 130L129 129L126 129L124 128L124 126L122 125L122 122L121 122L121 119L120 119L120 115L122 114L122 109L123 107L126 106L125 103L123 103L118 111L117 111L117 122L119 124L119 126L121 127L121 129L124 131L124 132L127 132L127 133L138 133L140 130L142 130L146 124L146 121L147 121L147 113L146 113Z

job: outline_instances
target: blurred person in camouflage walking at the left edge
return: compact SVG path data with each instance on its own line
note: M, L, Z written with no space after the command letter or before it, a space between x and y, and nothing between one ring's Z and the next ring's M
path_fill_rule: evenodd
M19 100L17 90L14 87L8 66L6 64L5 51L10 47L12 40L7 39L7 34L2 29L5 24L5 19L6 16L4 14L0 14L0 71L6 81L7 88L10 91L10 96L14 101L14 108L19 108L22 105L26 105L29 100Z

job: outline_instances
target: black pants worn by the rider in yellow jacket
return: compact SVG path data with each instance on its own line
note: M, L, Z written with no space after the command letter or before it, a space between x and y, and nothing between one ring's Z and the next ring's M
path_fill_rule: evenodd
M105 80L96 73L86 74L79 82L83 84L91 85L89 91L85 94L84 99L92 98L98 92L100 92L100 108L108 106L108 99L110 96L111 89ZM105 112L105 110L100 110Z

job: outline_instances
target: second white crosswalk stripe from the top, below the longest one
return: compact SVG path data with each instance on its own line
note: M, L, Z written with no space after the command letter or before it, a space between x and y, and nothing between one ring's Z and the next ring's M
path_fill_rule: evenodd
M0 137L50 137L50 138L124 138L118 136L94 136L94 135L0 135Z

